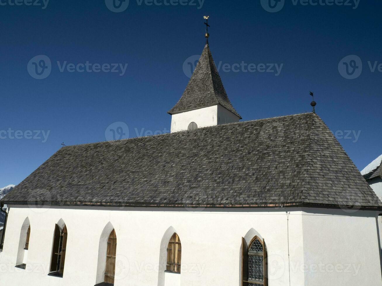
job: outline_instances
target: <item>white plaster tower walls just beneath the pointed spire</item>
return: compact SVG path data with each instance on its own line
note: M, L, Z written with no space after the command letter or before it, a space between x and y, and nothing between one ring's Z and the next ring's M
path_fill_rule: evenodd
M197 127L207 127L237 121L239 121L239 117L231 111L221 105L214 105L173 114L171 117L171 132L187 130L191 122L195 122Z

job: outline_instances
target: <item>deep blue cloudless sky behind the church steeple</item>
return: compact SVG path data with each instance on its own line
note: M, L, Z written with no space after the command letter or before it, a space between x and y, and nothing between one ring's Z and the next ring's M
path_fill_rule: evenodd
M62 142L109 139L114 122L126 124L115 129L127 126L125 137L168 132L167 111L188 82L183 64L204 47L204 15L243 121L311 111L311 90L359 169L382 153L380 1L271 0L275 13L263 8L267 0L130 0L119 13L107 8L112 0L19 1L0 0L0 187L21 182ZM44 79L29 73L39 55L51 61ZM262 64L282 69L261 72ZM345 78L346 65L356 78Z

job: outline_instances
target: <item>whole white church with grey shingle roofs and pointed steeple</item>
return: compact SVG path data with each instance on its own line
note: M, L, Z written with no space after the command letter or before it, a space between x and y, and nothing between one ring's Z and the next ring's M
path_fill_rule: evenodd
M1 285L382 286L382 202L317 114L240 122L208 42L168 113L1 200Z

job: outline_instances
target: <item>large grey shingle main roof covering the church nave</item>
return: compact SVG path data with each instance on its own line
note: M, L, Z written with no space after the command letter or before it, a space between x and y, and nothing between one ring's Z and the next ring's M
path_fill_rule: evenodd
M313 113L65 146L2 201L382 207Z

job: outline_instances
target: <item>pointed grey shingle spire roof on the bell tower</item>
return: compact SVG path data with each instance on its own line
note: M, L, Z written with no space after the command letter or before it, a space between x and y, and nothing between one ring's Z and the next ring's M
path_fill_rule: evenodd
M217 104L220 104L241 119L241 116L236 112L228 99L214 59L212 59L209 45L207 44L188 82L186 90L183 92L178 103L168 113L176 114Z

